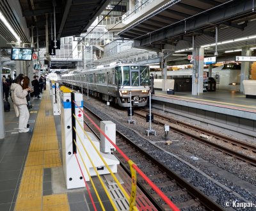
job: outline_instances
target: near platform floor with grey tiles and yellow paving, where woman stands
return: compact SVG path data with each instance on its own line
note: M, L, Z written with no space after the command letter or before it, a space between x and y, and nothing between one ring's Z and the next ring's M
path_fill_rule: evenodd
M61 164L61 120L53 115L49 90L44 91L41 100L31 100L27 133L19 133L19 118L9 102L11 110L4 112L5 137L0 139L0 210L94 210L85 187L66 188ZM124 189L131 192L131 178L120 166L118 175ZM113 210L99 179L93 177L93 182L105 209ZM88 182L88 186L97 210L102 210L92 183ZM117 185L107 186L113 191L118 210L129 210L124 195L117 194ZM140 210L156 210L139 189L136 201Z

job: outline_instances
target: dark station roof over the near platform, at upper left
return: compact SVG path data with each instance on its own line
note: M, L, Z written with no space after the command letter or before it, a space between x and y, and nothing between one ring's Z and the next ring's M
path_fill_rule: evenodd
M20 36L21 42L31 42L31 40L28 40L29 36L24 32L24 26L27 25L30 36L33 27L34 42L36 42L36 36L38 35L39 45L45 46L46 21L50 43L52 37L54 38L54 19L56 20L57 40L65 36L80 35L86 32L86 29L109 2L109 0L1 0L0 11ZM20 3L20 6L16 5L18 3ZM21 7L21 15L17 10L19 7ZM15 40L8 27L1 20L0 27L0 36L8 42Z

